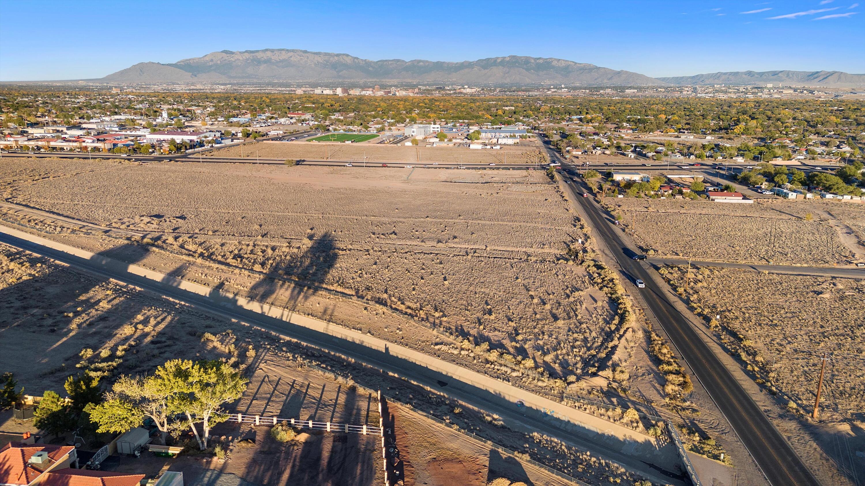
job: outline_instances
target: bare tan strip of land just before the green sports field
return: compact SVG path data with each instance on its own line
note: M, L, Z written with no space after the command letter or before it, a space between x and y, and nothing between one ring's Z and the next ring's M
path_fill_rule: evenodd
M507 154L507 157L505 156ZM212 150L203 157L245 157L291 160L344 160L354 163L539 163L541 152L535 141L501 149L475 150L466 147L420 147L386 144L331 144L304 140L260 142L242 147Z

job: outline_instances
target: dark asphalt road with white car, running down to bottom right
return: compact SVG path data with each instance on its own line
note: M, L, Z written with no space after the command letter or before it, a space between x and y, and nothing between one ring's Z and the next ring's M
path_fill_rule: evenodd
M558 158L552 150L548 152L550 157L555 157L554 160ZM588 215L589 226L593 227L594 234L604 240L622 270L631 279L640 278L645 282L645 287L638 291L650 309L650 318L655 317L667 336L670 336L682 358L727 418L769 483L773 486L819 485L817 478L805 467L790 444L727 371L708 344L703 342L689 320L676 310L655 279L650 277L649 272L652 271L648 265L641 265L625 255L622 249L626 246L618 233L620 230L610 223L606 211L593 197L580 197L574 187L576 184L563 185L582 206Z

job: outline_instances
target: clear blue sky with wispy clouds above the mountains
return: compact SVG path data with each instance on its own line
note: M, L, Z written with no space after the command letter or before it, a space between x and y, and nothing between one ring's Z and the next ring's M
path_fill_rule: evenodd
M0 80L99 78L143 61L260 48L372 60L559 57L650 76L865 73L865 0L0 0L0 11Z

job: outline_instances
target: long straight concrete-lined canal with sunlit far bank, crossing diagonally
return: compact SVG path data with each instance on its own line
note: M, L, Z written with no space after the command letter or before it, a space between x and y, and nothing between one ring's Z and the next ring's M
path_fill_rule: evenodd
M0 226L0 242L101 277L134 285L196 308L304 342L435 389L455 400L502 417L509 428L561 438L583 451L617 462L657 483L683 486L678 455L670 444L599 419L559 402L495 380L413 349L336 324L301 316L74 246ZM516 406L517 400L524 404Z

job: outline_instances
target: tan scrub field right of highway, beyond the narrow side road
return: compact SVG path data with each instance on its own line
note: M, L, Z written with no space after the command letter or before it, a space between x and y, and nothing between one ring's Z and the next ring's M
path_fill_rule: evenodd
M659 256L804 265L865 259L865 205L858 203L605 198L604 204Z

